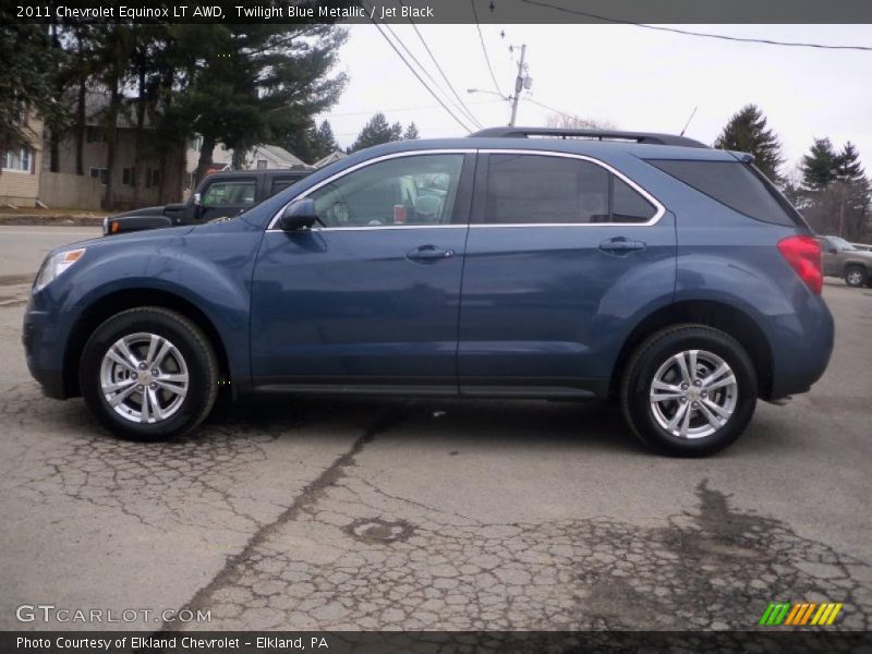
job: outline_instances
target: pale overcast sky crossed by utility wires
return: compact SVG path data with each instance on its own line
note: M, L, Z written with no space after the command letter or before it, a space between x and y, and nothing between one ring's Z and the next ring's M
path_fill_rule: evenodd
M390 27L441 83L439 96L450 96L413 27ZM872 25L675 27L872 46ZM507 101L467 92L496 93L476 26L420 25L419 29L479 122L484 126L507 124ZM678 133L695 107L686 135L711 144L734 113L754 102L782 141L785 171L796 167L814 137L828 136L836 147L851 141L872 172L872 51L739 44L630 25L482 25L481 29L505 95L512 90L520 53L518 48L510 53L509 46L526 44L532 88L521 96L519 125L545 124L555 111L535 104L541 102L622 130ZM373 25L354 25L349 31L338 66L349 75L349 85L340 101L318 117L318 121L330 121L341 146L350 145L376 111L384 111L390 122L405 125L414 121L422 137L467 134Z

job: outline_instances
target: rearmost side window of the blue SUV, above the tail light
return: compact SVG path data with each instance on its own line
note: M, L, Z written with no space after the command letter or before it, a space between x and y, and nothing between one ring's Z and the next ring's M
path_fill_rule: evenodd
M764 222L794 226L794 209L762 173L739 161L653 160L649 164L700 193Z

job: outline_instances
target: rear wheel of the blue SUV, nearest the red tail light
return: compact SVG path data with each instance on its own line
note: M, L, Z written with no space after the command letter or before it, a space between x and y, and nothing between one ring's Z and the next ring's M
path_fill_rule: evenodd
M678 325L635 350L623 375L621 407L652 449L700 457L741 435L756 393L753 364L736 339L704 325Z

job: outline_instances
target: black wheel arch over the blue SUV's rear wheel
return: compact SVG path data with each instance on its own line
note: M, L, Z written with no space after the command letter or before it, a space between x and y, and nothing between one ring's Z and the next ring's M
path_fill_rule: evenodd
M610 398L618 396L623 370L642 341L655 331L681 323L698 323L714 327L739 341L753 361L760 397L767 399L772 396L772 347L754 319L744 311L725 302L685 300L652 312L633 328L625 340L613 368L608 389Z

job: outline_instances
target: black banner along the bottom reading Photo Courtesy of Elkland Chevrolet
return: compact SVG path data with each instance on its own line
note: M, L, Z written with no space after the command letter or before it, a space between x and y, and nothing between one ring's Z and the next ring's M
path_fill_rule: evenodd
M870 652L868 632L773 628L688 632L0 632L0 652L45 654L570 654L676 652L838 654Z

